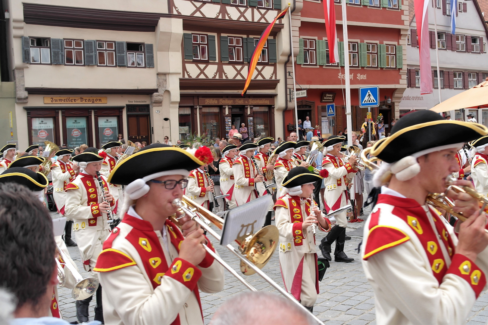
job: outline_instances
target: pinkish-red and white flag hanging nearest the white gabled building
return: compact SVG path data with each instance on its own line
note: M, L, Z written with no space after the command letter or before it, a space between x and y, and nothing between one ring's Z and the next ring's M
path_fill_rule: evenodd
M432 94L430 43L428 35L428 5L430 0L413 0L420 53L420 94ZM437 44L436 44L437 46Z

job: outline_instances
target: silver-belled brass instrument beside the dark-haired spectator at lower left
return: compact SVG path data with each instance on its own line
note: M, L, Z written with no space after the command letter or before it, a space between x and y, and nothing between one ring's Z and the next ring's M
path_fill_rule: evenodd
M62 249L58 245L56 245L56 250L58 251L60 258L61 258L61 262L57 258L55 258L56 264L58 266L59 285L61 287L64 287L66 284L66 281L65 281L66 277L64 274L64 269L62 268L62 265L64 265L66 268L68 268L68 270L71 272L71 274L73 274L73 277L76 280L76 285L71 290L71 296L75 300L83 300L83 299L86 299L88 297L91 297L95 293L95 291L97 291L97 289L98 289L98 286L99 286L98 280L95 278L92 278L92 277L83 279L81 277L80 272L78 272L78 270L68 261L66 255L64 254L64 252L62 251Z

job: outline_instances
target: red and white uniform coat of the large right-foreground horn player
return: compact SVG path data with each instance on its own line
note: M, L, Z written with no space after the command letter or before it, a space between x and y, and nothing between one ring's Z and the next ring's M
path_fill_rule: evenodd
M464 324L486 289L488 250L471 261L428 205L382 187L366 220L361 256L378 324Z

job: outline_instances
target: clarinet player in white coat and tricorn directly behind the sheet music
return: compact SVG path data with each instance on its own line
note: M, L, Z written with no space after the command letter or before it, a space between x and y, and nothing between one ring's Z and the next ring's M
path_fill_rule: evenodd
M258 148L258 144L250 140L244 141L239 147L239 157L232 164L234 172L234 197L236 205L241 206L258 197L254 185L264 180L264 176L258 173L251 161L252 154Z

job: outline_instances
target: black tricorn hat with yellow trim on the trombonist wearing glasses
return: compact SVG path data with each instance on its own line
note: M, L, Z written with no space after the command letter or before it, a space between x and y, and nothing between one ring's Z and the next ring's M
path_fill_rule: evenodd
M108 181L128 185L136 179L157 172L185 169L188 172L205 165L192 153L179 147L153 143L124 159L110 173Z

